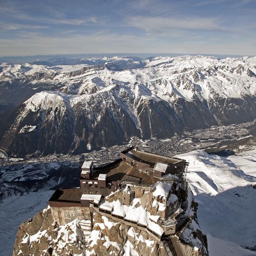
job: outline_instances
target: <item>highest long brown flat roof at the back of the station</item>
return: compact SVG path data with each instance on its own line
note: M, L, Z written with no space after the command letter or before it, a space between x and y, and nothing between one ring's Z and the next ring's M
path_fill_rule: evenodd
M165 156L161 156L158 154L153 154L153 153L149 153L149 152L145 152L145 151L140 151L140 150L136 151L134 149L132 149L124 154L126 154L129 157L134 158L134 160L137 160L139 162L140 162L140 160L142 160L143 162L150 164L151 167L153 167L157 162L175 164L180 161L183 161L182 159L179 159L179 158L165 157Z

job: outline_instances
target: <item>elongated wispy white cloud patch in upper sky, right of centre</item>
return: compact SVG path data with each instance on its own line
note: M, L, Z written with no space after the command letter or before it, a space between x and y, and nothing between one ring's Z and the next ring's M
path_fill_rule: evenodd
M126 20L127 26L142 29L145 32L159 33L172 29L198 29L198 30L215 30L229 31L220 25L216 18L201 18L201 17L131 17Z

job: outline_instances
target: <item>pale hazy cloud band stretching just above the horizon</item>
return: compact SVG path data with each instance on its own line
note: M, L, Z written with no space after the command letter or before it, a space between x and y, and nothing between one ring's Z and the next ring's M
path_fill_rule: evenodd
M29 38L2 39L0 52L3 55L45 55L81 53L186 53L186 54L224 54L255 55L253 42L243 47L243 41L159 40L157 37L119 35L102 33L99 35L69 35L63 37L42 37L30 35Z

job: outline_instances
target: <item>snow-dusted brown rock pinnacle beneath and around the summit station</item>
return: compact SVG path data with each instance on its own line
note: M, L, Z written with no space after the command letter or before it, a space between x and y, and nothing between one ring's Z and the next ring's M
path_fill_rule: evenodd
M118 204L122 202L121 204L127 209L134 207L144 208L145 212L151 214L154 211L158 212L159 209L154 209L153 206L152 192L143 192L135 188L134 193L135 198L130 202L125 196L127 191L119 190L105 198L105 203L116 203L120 200ZM142 197L137 198L140 194ZM183 227L180 238L178 234L172 236L172 243L178 256L207 256L207 241L198 226L196 204L192 201L193 195L189 191L186 194L184 196L187 199L183 202L183 208L192 221ZM163 205L161 207L163 208ZM136 225L114 220L93 208L89 211L89 207L64 208L48 207L35 215L33 220L21 224L16 236L13 256L167 255L163 240L154 239ZM145 218L142 214L143 210L140 218Z

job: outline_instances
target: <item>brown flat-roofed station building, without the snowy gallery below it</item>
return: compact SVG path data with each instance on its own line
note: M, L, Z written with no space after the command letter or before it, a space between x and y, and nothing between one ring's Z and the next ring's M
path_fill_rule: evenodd
M125 182L150 186L167 174L185 180L187 165L183 159L152 154L131 147L122 151L118 160L105 166L94 167L93 161L85 161L81 167L80 188L55 191L49 199L49 205L89 207L93 198L108 196Z

